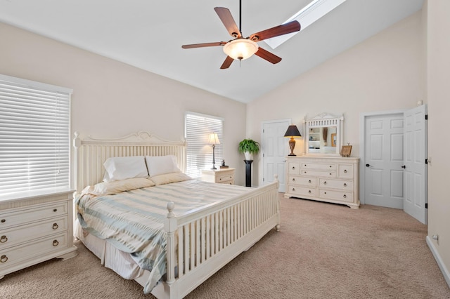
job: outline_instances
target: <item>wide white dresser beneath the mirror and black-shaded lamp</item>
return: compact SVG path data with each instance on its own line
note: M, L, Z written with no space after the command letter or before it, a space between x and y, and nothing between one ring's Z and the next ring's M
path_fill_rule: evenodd
M285 197L359 208L359 158L287 157Z

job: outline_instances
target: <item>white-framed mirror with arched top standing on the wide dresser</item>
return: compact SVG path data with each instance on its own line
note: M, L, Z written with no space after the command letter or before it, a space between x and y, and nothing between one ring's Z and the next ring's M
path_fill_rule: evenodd
M305 119L306 154L329 154L340 156L342 145L343 116L322 113Z

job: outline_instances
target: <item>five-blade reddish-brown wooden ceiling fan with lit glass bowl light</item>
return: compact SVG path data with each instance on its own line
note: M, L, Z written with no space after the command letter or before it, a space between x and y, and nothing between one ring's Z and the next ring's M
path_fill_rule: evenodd
M292 21L285 23L283 25L278 25L276 27L272 27L261 32L257 32L251 34L247 38L242 36L242 32L240 31L240 11L241 11L241 2L239 1L239 28L236 25L236 22L233 19L233 15L231 15L228 8L224 7L215 7L214 11L216 11L217 15L219 15L220 20L224 23L226 30L229 32L234 39L230 41L218 41L215 43L204 43L204 44L191 44L191 45L183 45L181 48L202 48L202 47L210 47L210 46L224 46L224 53L226 54L226 58L224 63L221 65L221 69L227 69L230 67L233 60L244 60L252 56L253 54L263 58L272 63L278 63L281 61L277 55L270 53L269 51L264 50L260 46L258 46L257 41L263 41L264 39L271 39L275 36L280 36L292 32L300 31L300 23L298 21Z

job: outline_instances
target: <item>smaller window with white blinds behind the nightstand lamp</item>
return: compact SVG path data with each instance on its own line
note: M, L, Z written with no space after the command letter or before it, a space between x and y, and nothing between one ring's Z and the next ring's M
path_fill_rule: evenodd
M214 149L216 167L220 165L224 154L222 127L224 119L210 115L186 112L186 141L188 142L186 174L200 178L201 170L212 168L212 146L208 145L210 133L217 133L220 145Z

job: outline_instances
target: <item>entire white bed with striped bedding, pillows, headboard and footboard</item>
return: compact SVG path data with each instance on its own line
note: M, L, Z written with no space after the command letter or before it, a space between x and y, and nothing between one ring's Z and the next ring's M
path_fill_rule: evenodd
M144 293L183 298L267 232L280 229L277 178L257 188L193 180L184 175L184 140L167 141L146 131L107 139L75 133L73 145L75 237L105 267L141 284ZM127 159L127 167L128 161L144 159L147 178L115 176L117 180L103 182L113 173L109 161L121 159ZM167 159L176 166L167 166ZM171 167L174 173L158 173ZM153 184L140 185L147 179ZM119 190L110 192L111 184L120 185ZM122 219L127 213L132 220ZM122 222L127 225L120 226ZM124 230L129 222L136 222L132 232ZM135 230L144 231L137 239L152 234L145 245L130 239Z

